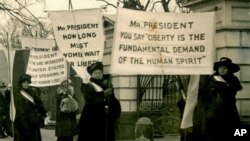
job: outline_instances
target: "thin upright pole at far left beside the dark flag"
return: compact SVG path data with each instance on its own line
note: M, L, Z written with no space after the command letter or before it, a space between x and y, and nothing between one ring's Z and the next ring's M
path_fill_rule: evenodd
M12 87L12 78L11 78L11 67L10 67L10 47L9 47L9 34L7 32L7 57L8 57L8 70L9 70L9 84L10 85L10 118L12 119L11 122L11 129L12 129L12 135L14 137L14 118L15 118L15 104L14 104L14 95L13 95L13 87ZM9 86L8 86L9 87Z

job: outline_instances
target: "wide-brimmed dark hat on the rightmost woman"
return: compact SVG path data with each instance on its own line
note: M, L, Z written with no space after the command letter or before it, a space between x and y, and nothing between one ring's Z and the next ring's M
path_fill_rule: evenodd
M220 61L214 63L214 70L218 71L219 66L226 66L228 70L235 73L240 70L239 65L234 64L231 59L227 57L220 58Z

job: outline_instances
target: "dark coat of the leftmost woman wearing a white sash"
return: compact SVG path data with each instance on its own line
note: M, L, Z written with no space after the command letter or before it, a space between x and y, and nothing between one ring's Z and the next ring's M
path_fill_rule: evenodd
M16 107L14 141L41 141L40 125L43 119L41 117L46 116L46 110L33 89L28 89L26 92L33 97L35 104L24 98L20 91L14 94Z

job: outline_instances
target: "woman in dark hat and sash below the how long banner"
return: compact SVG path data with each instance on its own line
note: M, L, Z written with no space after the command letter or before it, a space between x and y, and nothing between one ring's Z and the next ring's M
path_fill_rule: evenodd
M120 103L103 78L101 62L92 64L87 71L91 79L81 88L85 106L78 125L78 141L115 141L115 120L120 116Z

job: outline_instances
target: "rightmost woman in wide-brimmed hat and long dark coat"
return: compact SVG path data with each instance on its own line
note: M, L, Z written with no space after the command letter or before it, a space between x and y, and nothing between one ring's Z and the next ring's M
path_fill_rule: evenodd
M204 140L231 141L240 124L235 96L242 86L233 74L240 68L231 59L222 57L214 63L214 70L202 95L199 94L198 104L203 114L199 113L197 117L202 118Z

